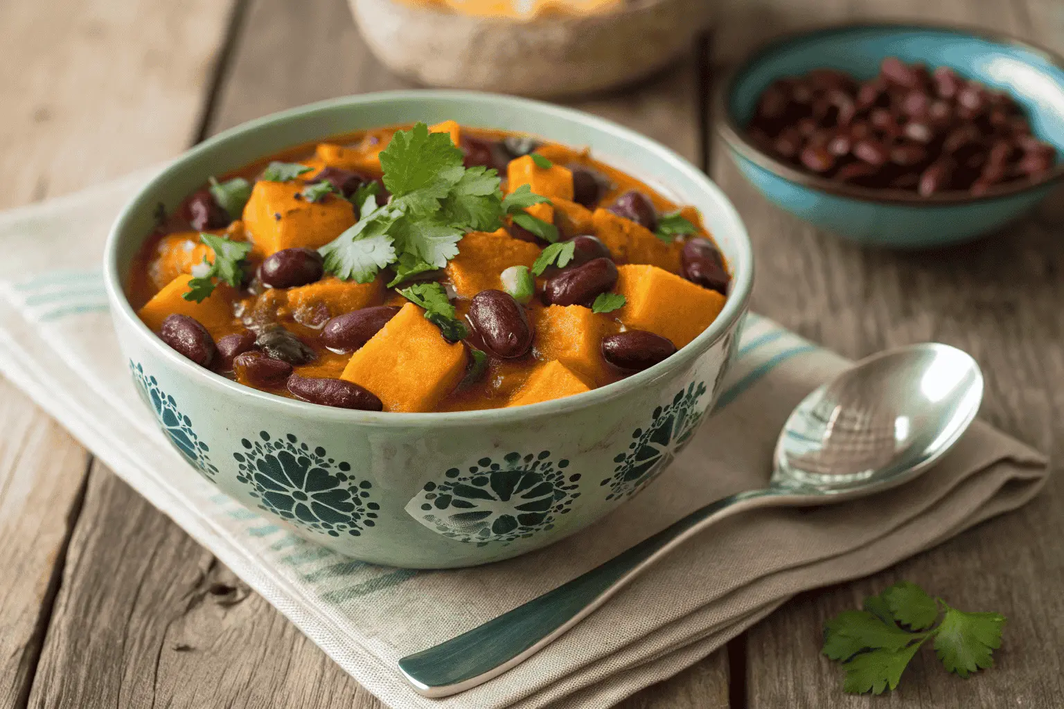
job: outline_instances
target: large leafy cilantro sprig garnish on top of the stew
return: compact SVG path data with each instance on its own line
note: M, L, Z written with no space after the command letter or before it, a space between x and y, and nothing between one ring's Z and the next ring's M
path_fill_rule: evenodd
M392 193L388 203L379 207L369 188L360 189L352 198L360 207L358 223L319 249L326 271L343 280L368 283L392 266L392 287L443 268L458 255L458 242L468 232L494 232L510 209L546 201L521 192L504 202L496 170L463 167L462 151L450 134L430 133L425 123L397 131L380 159Z

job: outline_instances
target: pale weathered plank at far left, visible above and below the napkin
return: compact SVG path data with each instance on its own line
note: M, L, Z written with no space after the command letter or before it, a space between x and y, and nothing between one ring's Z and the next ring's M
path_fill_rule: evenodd
M230 6L0 3L0 208L185 147ZM0 381L0 707L24 706L29 695L87 461L69 434Z

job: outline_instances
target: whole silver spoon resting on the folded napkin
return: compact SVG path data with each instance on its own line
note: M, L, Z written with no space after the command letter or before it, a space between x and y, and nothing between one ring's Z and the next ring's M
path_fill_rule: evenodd
M858 362L810 393L776 444L769 487L695 510L571 581L456 638L399 660L425 696L464 692L549 645L652 563L717 520L755 507L842 502L905 483L968 427L979 366L947 344L913 344Z

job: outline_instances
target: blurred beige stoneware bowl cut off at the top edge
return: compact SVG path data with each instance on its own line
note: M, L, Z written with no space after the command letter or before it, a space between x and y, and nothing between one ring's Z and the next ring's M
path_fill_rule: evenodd
M688 51L709 0L626 0L615 12L530 20L395 0L349 0L362 36L394 72L429 86L550 97L645 77Z

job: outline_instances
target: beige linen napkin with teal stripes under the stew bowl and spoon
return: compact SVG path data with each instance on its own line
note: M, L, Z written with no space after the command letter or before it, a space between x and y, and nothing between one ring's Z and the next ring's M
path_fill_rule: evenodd
M98 265L111 221L152 172L0 215L0 370L396 709L612 706L795 593L933 546L1024 504L1046 479L1042 456L976 422L934 470L901 488L722 521L520 666L463 694L421 697L398 672L403 655L579 575L696 507L765 485L792 407L847 361L751 315L714 415L668 471L598 524L475 569L354 561L219 494L168 446L136 396Z

